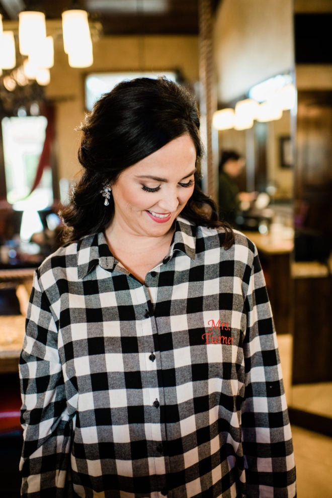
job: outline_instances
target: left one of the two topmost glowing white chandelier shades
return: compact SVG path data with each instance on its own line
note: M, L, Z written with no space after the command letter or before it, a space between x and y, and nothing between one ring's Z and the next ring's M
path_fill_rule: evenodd
M19 44L22 55L38 50L46 38L43 12L23 11L19 14Z

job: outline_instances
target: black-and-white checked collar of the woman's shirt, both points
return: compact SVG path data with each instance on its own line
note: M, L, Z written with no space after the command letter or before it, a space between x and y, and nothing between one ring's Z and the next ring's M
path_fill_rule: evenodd
M180 251L192 260L196 252L196 226L188 220L178 217L175 232L168 256L164 262L172 259ZM117 260L109 250L103 232L82 237L77 242L77 271L78 278L86 277L97 265L105 270L112 271Z

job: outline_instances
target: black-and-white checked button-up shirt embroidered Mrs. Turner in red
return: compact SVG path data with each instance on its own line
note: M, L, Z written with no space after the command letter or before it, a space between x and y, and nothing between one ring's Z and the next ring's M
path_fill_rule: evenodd
M296 496L257 250L223 237L178 218L144 285L102 233L43 262L20 360L23 496Z

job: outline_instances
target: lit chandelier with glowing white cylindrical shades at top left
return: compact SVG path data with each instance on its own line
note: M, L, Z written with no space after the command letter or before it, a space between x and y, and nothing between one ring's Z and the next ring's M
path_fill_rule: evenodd
M7 23L10 24L10 23ZM48 85L50 68L54 65L54 33L60 27L58 21L48 22L53 27L53 36L46 34L46 19L43 12L23 11L19 13L17 29L5 31L0 15L0 75L2 70L17 67L22 59L21 71L28 80L39 85ZM16 30L15 30L16 27ZM89 67L93 64L93 43L88 21L88 12L80 9L67 10L61 20L63 48L70 67ZM17 56L15 35L18 35Z

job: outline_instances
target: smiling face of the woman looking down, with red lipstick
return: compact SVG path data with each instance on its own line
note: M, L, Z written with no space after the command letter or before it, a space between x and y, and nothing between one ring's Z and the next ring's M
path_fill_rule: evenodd
M182 135L124 170L112 185L112 228L133 235L167 234L194 190L196 148Z

